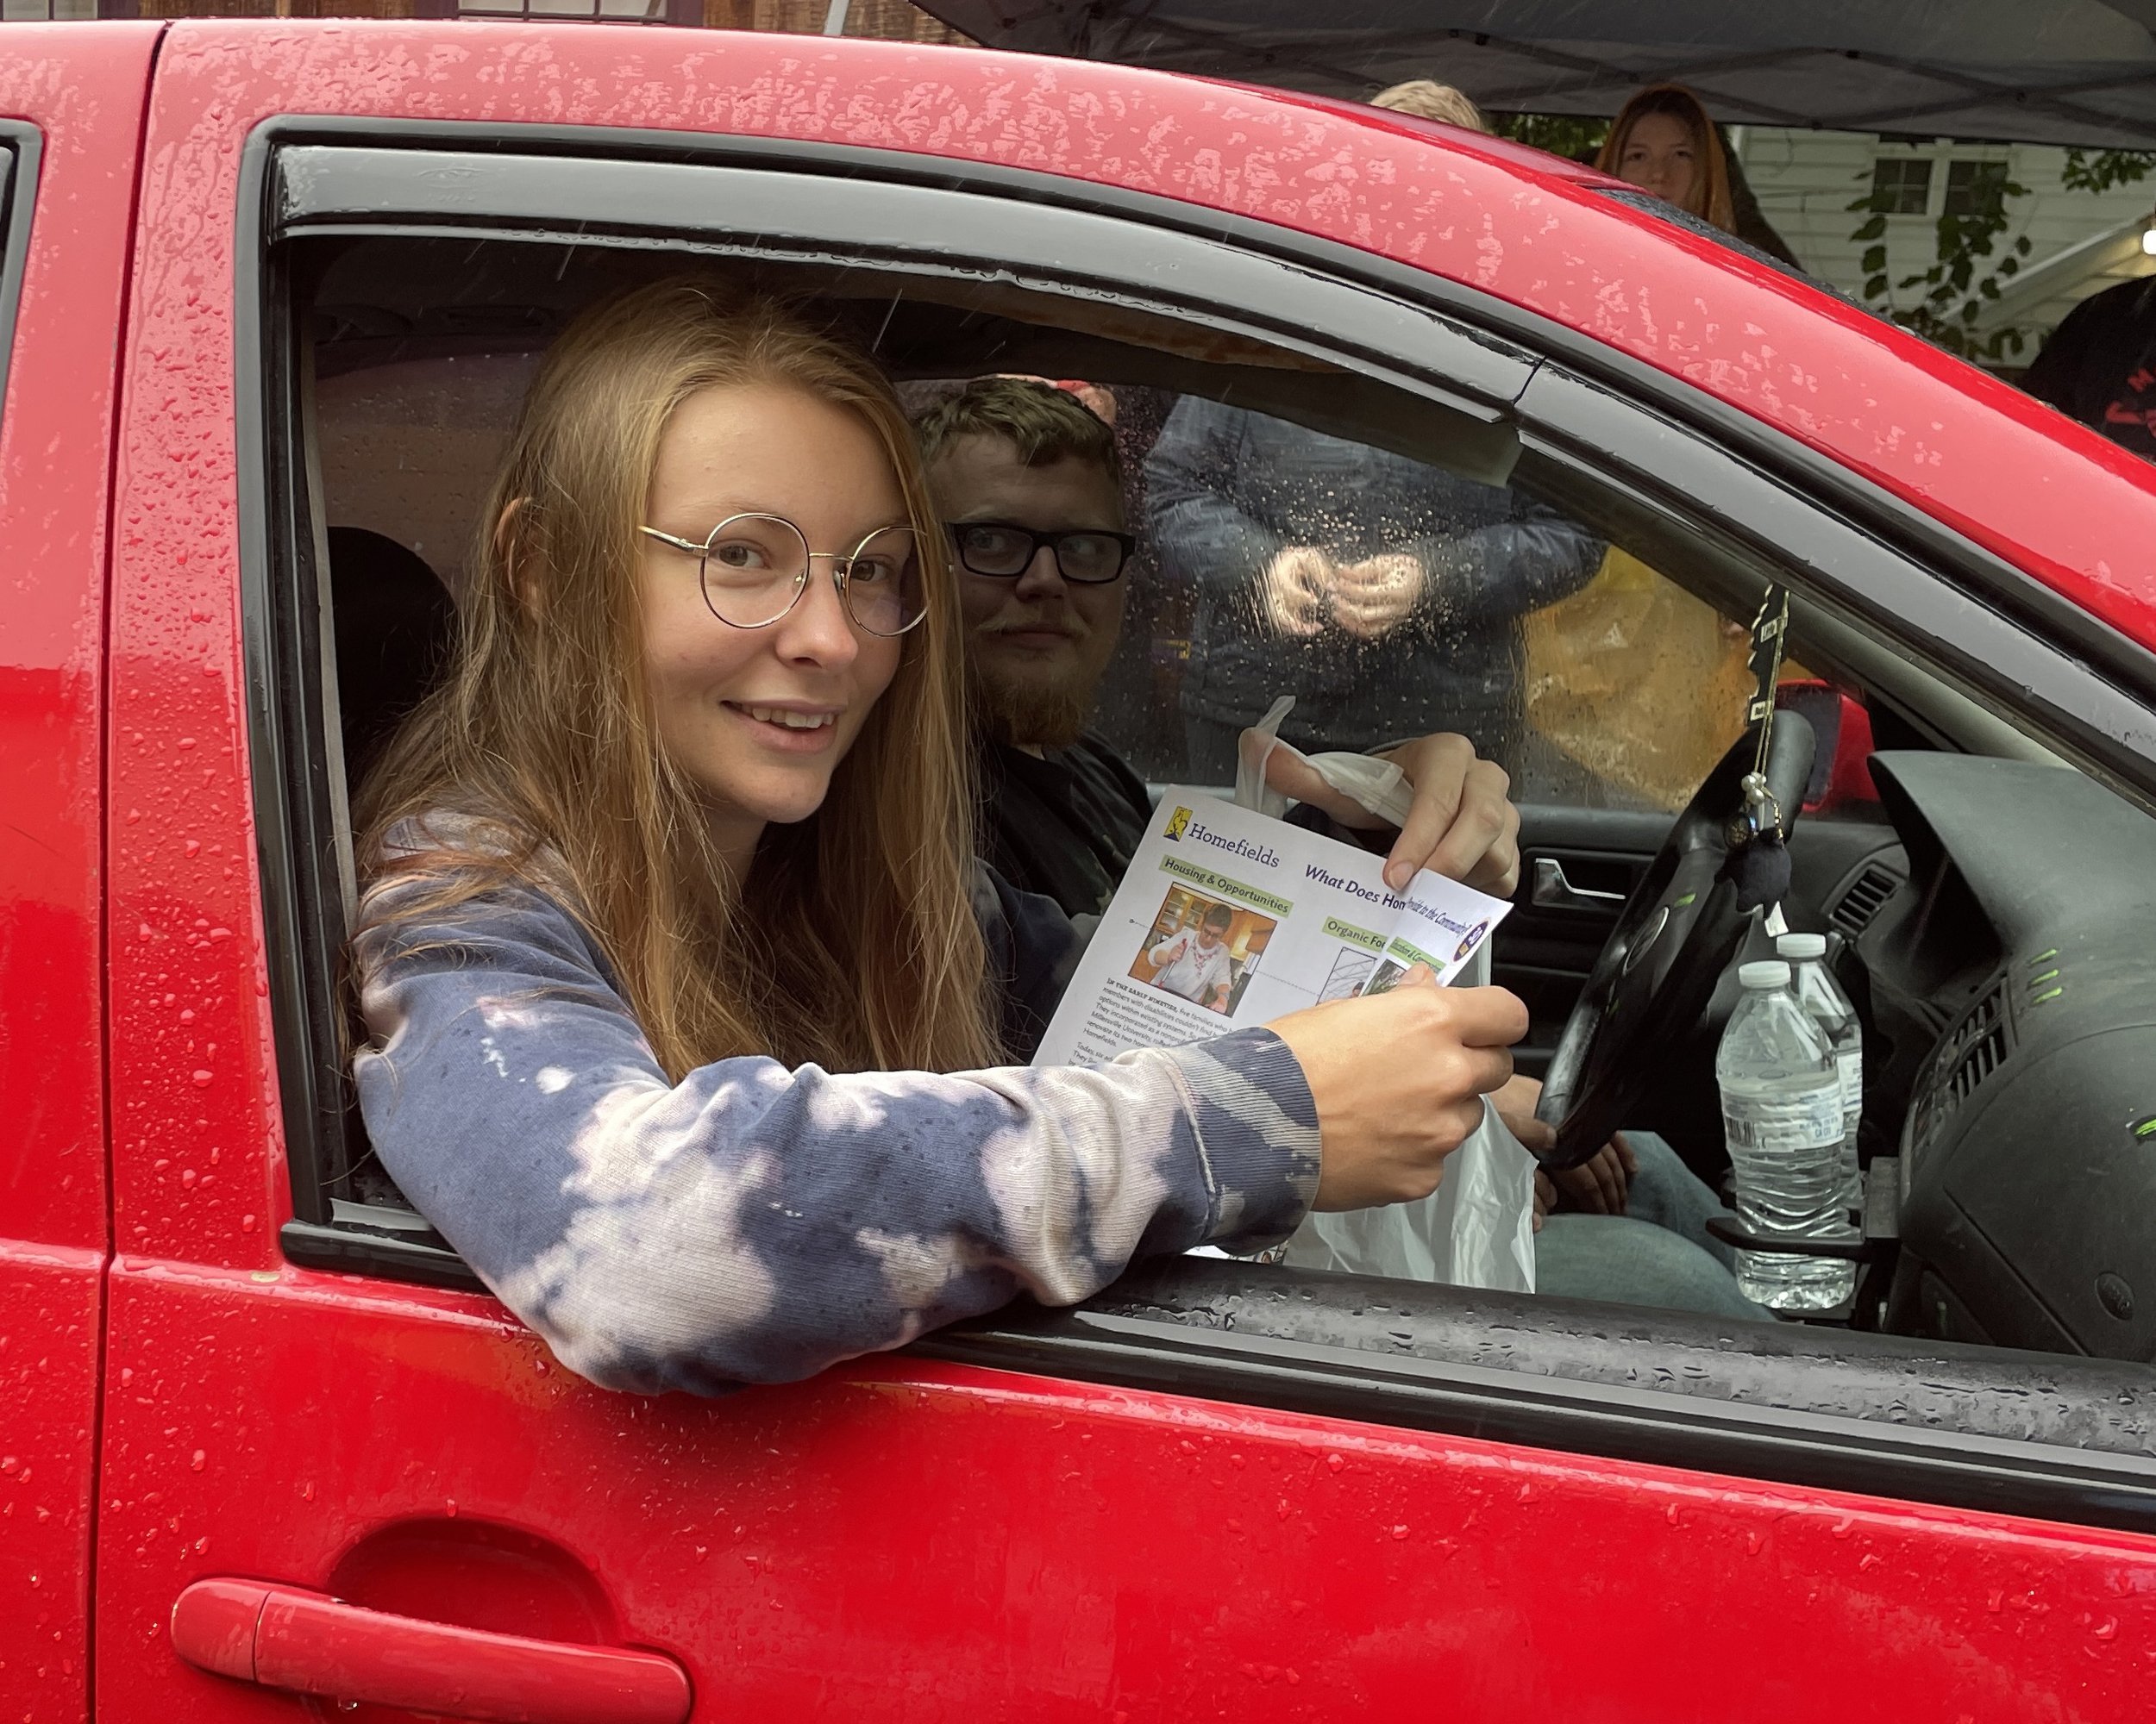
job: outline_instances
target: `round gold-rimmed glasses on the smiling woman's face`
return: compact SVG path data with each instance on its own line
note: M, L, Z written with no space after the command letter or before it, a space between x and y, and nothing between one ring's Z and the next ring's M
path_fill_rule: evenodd
M819 560L830 565L845 614L869 634L906 634L927 614L921 545L910 526L880 526L845 556L808 550L785 515L729 515L701 543L655 526L638 532L694 556L705 606L735 629L768 629L793 610Z

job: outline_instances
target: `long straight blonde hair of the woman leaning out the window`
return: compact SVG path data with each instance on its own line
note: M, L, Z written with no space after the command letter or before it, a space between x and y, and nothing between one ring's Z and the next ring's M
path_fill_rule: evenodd
M927 586L927 618L824 806L765 828L742 881L660 748L636 534L668 418L727 384L798 388L869 425ZM867 358L783 304L694 280L589 308L524 401L474 567L451 672L360 795L373 877L423 877L377 899L377 922L431 922L505 884L552 890L675 1080L733 1054L839 1071L996 1060L970 901L957 597L906 414ZM446 856L395 840L429 815L489 836Z

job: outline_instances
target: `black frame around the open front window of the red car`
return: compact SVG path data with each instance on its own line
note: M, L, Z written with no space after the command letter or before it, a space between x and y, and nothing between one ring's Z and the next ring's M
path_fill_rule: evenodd
M485 172L403 175L403 190L397 175L377 175L371 190L360 187L362 198L347 196L360 205L351 209L338 207L338 196L356 181L326 190L323 175L338 166L330 155L310 157L319 170L310 185L280 172L300 162L280 162L280 151L300 149L399 159L455 153L466 168L476 157ZM1365 293L1373 306L1393 304L1401 319L1412 317L1425 347L1395 351L1363 319L1352 343L1328 338L1322 349L1516 435L1552 470L1570 468L1583 483L1591 474L1641 509L1703 519L1716 534L1792 560L1800 590L1809 584L1820 599L1889 634L1930 631L1971 690L2014 711L2033 700L2050 746L2156 806L2156 655L2147 649L1727 403L1442 278L1147 194L888 151L591 127L280 119L250 138L241 172L237 399L248 724L295 1209L282 1248L295 1263L476 1287L420 1218L332 1200L319 1177L323 1136L341 1131L345 1106L336 953L326 950L332 942L323 933L341 927L341 886L317 741L319 621L308 595L295 590L313 590L317 580L321 524L291 425L302 353L282 310L287 252L272 241L336 220L369 233L446 224L474 237L541 237L535 220L543 218L543 237L576 233L578 244L593 244L595 228L619 222L619 203L578 211L563 194L565 162L783 170L793 177L791 203L804 226L832 200L858 205L862 187L886 205L903 187L962 192L981 231L979 248L992 259L1005 256L1013 224L1028 211L1115 218L1128 224L1130 256L1093 248L1056 265L1072 282L1151 293L1171 310L1218 319L1222 306L1207 306L1207 284L1188 269L1181 297L1134 287L1130 274L1143 282L1147 263L1164 250L1212 256L1218 272L1244 282L1250 265L1263 263L1287 284L1283 304L1225 304L1231 321L1272 340L1304 338L1313 280L1328 282L1326 291ZM481 205L496 198L474 192L481 181L520 183L507 218ZM679 211L658 244L716 226L714 203L703 200ZM768 231L761 244L774 244ZM925 254L918 233L912 244ZM949 254L949 237L936 246ZM1442 349L1442 369L1429 347ZM1233 1315L1222 1321L1229 1306ZM1313 1306L1324 1315L1317 1327ZM2141 1366L1796 1330L1800 1340L1761 1377L1753 1353L1731 1355L1718 1345L1727 1325L1710 1319L1563 1299L1501 1306L1460 1289L1179 1261L1138 1269L1078 1310L1018 1306L927 1336L916 1349L1742 1478L1884 1489L1923 1502L2156 1530L2156 1455L2141 1435L2156 1405L2156 1377ZM1391 1334L1399 1325L1388 1308L1412 1315L1412 1343ZM1488 1323L1498 1319L1511 1347L1492 1353ZM1600 1353L1589 1336L1600 1340ZM1686 1392L1636 1388L1671 1360L1684 1362ZM1986 1418L1984 1394L2005 1381L2001 1373L2020 1384L2042 1379L2050 1412L2031 1420L2014 1407L2012 1416L1999 1409ZM1912 1412L1919 1388L1930 1399L1919 1396Z

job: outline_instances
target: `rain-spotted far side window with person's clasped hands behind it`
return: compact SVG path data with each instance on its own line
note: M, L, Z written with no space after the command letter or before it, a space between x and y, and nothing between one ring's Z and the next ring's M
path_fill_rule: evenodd
M1233 737L1367 750L1460 731L1520 800L1684 806L1744 728L1744 629L1518 483L1153 388L1115 414L1138 526L1097 731L1153 782Z

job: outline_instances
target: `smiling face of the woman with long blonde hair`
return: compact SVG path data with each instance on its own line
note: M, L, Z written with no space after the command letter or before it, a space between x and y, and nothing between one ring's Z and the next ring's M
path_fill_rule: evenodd
M869 425L787 384L716 384L660 437L645 524L703 543L729 515L783 515L811 552L808 590L740 629L705 606L696 558L642 539L645 677L668 759L696 787L720 853L746 871L772 821L813 815L903 642L856 627L828 556L903 526L906 498Z

